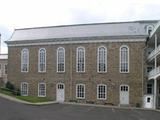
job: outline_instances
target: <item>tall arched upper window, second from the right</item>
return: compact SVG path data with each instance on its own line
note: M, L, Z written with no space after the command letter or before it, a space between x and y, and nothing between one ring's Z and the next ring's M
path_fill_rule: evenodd
M98 56L97 56L97 69L98 72L106 72L107 71L107 50L105 47L98 48Z

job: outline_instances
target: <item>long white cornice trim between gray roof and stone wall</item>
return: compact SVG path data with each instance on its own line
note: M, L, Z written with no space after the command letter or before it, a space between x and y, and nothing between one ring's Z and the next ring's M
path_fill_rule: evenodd
M35 46L35 45L55 45L55 44L76 44L76 43L109 43L109 42L145 42L146 39L114 39L114 40L83 40L83 41L59 41L59 42L36 42L36 43L12 43L12 46Z

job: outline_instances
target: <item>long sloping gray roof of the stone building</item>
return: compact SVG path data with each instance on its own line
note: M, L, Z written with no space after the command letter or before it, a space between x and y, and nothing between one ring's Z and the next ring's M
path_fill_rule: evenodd
M101 36L144 36L147 24L157 21L134 21L96 23L16 29L11 41L44 40L60 38L101 37Z

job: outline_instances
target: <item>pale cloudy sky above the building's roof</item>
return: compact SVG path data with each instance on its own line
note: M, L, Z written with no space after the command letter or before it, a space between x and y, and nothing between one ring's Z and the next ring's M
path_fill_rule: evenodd
M160 20L160 0L0 0L1 53L14 29Z

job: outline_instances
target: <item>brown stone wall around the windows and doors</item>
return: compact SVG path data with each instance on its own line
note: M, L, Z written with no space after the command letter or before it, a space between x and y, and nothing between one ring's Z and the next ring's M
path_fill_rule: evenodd
M129 73L119 72L119 48L121 45L129 47ZM76 72L76 48L85 47L86 69L84 73ZM107 48L107 72L97 72L97 48ZM56 54L57 48L65 48L65 72L57 73ZM37 96L38 82L47 84L47 97L56 100L56 84L65 84L65 101L76 100L76 84L86 85L85 100L79 102L94 101L95 103L106 103L119 105L119 87L121 84L129 85L129 101L131 106L142 103L143 86L143 48L144 42L109 42L109 43L83 43L83 44L56 44L9 47L8 49L8 79L16 87L21 82L29 83L29 95ZM29 49L29 72L21 73L21 50ZM46 48L46 72L38 73L38 50ZM97 84L107 85L107 99L97 100Z

